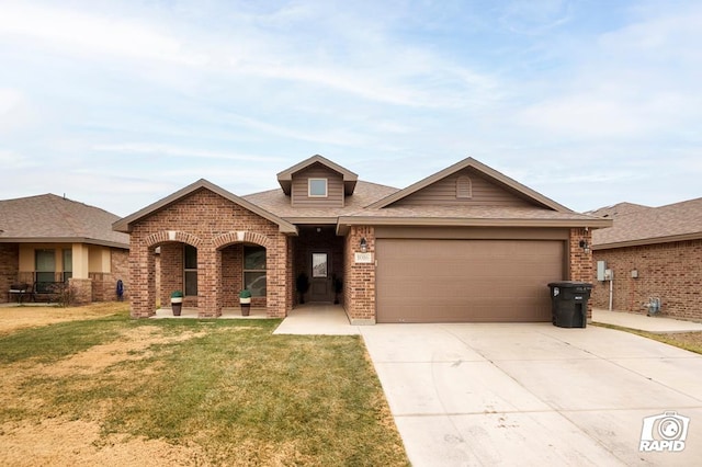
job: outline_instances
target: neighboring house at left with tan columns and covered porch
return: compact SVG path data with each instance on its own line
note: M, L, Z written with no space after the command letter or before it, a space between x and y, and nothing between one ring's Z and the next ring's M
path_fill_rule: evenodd
M22 283L37 293L67 284L84 304L115 299L122 280L126 295L129 236L112 230L118 218L54 194L0 201L0 301Z

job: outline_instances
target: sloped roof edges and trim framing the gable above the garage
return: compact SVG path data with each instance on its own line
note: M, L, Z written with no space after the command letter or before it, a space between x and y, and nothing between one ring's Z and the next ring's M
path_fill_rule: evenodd
M373 204L373 206L371 207L387 207L389 205L392 205L393 203L403 200L409 195L411 195L412 193L418 192L421 189L424 189L435 182L438 182L439 180L442 180L449 175L452 175L456 172L462 171L463 169L467 169L467 168L472 168L476 171L478 171L480 174L483 174L484 176L486 176L488 180L490 180L492 183L501 186L502 189L506 189L514 194L517 194L518 196L531 202L531 204L536 204L540 206L543 206L545 208L550 208L553 210L559 210L559 212L570 212L570 209L568 209L567 207L556 203L553 200L547 198L546 196L536 193L535 191L533 191L532 189L530 189L529 186L522 185L521 183L510 179L509 176L505 175L503 173L498 172L495 169L491 169L487 166L485 166L484 163L477 161L476 159L473 159L472 157L466 158L460 162L454 163L451 167L448 167L446 169L434 173L433 175L429 175L423 180L420 180L419 182L409 185L408 187L398 191L397 193L394 193L393 195L386 197L385 200L381 200L380 202Z

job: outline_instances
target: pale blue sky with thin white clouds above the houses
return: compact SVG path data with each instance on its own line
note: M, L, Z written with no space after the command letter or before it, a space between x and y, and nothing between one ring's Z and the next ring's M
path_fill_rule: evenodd
M575 210L702 196L702 2L0 0L0 198L126 216L320 153Z

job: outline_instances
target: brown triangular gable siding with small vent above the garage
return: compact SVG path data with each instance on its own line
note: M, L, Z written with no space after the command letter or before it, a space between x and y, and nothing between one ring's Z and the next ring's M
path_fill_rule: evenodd
M458 170L408 196L392 206L530 206L513 191L483 176L473 168Z

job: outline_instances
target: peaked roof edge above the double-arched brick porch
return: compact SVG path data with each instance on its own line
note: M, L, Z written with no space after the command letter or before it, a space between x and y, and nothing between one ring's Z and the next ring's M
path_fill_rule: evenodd
M116 223L113 224L112 228L118 231L123 231L123 232L131 232L133 225L141 219L144 219L145 217L148 217L155 213L157 213L158 210L161 210L168 206L170 206L173 203L177 203L178 201L200 191L200 190L208 190L213 193L218 194L219 196L229 200L233 203L238 204L239 206L249 209L252 213L258 214L259 216L263 217L264 219L268 219L270 221L272 221L273 224L278 224L280 231L283 234L297 234L297 227L295 227L293 224L282 219L281 217L274 215L273 213L265 210L264 208L262 208L261 206L258 206L242 197L239 197L226 190L224 190L220 186L215 185L212 182L208 182L205 179L200 179L194 183L191 183L190 185L185 186L184 189L181 189L179 191L177 191L176 193L166 196L165 198L157 201L156 203L152 203L150 205L148 205L147 207L145 207L141 210L138 210L127 217L124 217L123 219L117 220Z

